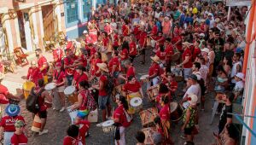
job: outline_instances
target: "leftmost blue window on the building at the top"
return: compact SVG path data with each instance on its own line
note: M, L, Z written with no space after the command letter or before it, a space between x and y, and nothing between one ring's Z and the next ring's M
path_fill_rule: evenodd
M67 23L72 23L79 20L78 0L67 2Z

